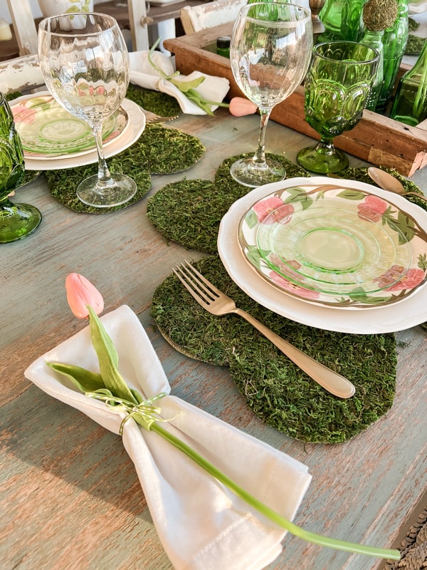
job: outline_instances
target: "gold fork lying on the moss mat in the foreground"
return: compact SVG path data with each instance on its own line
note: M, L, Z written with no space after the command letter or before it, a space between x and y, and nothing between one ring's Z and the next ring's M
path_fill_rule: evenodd
M172 271L174 271L179 281L181 281L187 291L189 291L206 311L218 316L230 313L243 316L243 318L246 318L246 321L257 328L260 333L263 333L269 341L280 348L283 354L288 356L293 363L299 366L302 371L325 388L325 390L339 398L350 398L350 396L354 394L354 385L352 385L347 378L337 374L330 368L327 368L327 366L323 366L320 362L315 361L295 346L292 346L288 341L285 341L276 333L270 331L269 328L246 313L246 311L238 309L233 299L211 284L211 282L197 271L194 266L189 264L188 261L184 261L184 264L179 264L175 269L172 269Z

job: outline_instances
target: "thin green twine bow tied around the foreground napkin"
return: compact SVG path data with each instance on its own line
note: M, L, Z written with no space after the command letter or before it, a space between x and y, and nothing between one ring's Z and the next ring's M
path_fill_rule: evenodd
M170 422L176 418L176 416L174 416L174 418L169 418L168 420L161 418L160 413L162 408L156 408L153 405L157 400L167 396L166 392L161 392L152 398L148 398L148 400L142 400L142 402L139 402L138 404L125 400L124 398L118 398L113 395L110 390L107 390L107 388L96 390L96 392L86 392L85 395L89 398L93 398L94 400L105 402L107 408L112 408L115 412L125 412L127 414L120 424L120 435L123 435L123 427L125 427L125 423L127 420L130 420L130 418L137 420L137 423L142 425L142 427L147 431L151 429L154 422Z

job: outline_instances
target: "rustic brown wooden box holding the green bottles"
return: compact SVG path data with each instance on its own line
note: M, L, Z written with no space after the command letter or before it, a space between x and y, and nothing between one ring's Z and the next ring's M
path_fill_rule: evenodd
M197 33L164 41L164 46L175 54L176 68L184 75L202 71L209 75L226 77L230 81L227 98L242 96L234 81L228 58L206 50L218 36L229 36L232 24L223 24ZM406 71L402 66L401 73ZM271 118L309 135L319 138L304 119L304 88L300 86L288 99L276 105ZM427 164L427 120L416 127L364 110L362 120L347 133L334 139L334 144L349 154L375 165L394 167L404 176L411 176Z

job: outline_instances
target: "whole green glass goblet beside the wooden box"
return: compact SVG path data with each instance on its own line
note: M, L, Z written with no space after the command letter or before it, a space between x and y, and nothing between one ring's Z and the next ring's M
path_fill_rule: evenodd
M376 76L378 52L352 41L330 41L313 48L305 80L305 120L320 142L297 154L310 172L339 172L349 165L333 140L362 118Z

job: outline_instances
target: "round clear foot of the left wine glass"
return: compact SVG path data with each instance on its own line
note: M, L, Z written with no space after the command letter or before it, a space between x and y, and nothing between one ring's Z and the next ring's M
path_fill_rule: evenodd
M76 190L78 199L95 208L110 208L129 202L137 193L135 180L120 172L113 172L111 177L112 185L104 187L100 186L97 175L82 180Z

